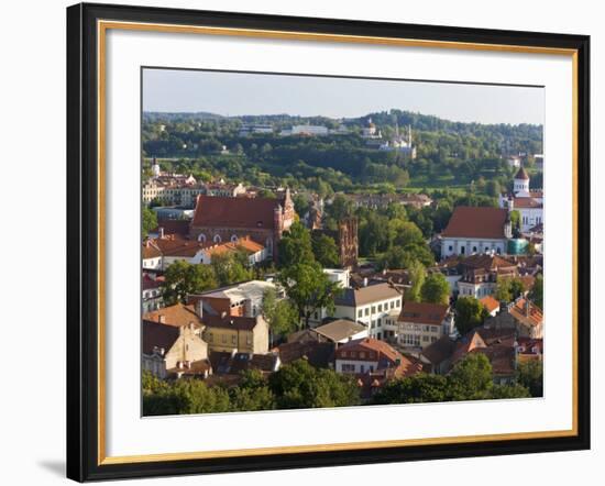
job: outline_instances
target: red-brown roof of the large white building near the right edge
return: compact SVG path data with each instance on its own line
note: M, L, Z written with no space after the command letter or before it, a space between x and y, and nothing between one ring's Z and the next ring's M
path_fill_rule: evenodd
M507 217L508 210L504 208L459 206L441 236L504 240Z

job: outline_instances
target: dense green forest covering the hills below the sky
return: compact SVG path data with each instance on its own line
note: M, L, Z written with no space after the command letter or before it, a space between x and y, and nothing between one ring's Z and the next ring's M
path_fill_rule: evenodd
M367 146L361 131L369 120L384 140L396 126L411 125L417 157ZM240 135L243 124L271 123L274 133ZM326 136L282 136L296 124L343 126ZM222 177L261 187L289 186L328 196L333 191L394 192L440 188L507 187L513 169L506 157L542 153L541 125L461 123L391 110L334 120L287 114L221 117L212 113L144 113L143 157L161 159L166 170L191 173L199 180ZM145 167L148 167L145 164ZM541 174L532 175L541 186Z

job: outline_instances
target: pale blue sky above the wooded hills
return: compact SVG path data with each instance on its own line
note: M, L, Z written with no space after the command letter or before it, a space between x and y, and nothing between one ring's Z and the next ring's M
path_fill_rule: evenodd
M544 121L544 89L435 81L144 69L143 110L334 119L399 109L451 121Z

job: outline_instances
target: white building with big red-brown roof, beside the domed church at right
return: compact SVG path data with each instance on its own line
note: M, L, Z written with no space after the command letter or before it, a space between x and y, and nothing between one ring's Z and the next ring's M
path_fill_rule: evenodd
M512 236L506 209L459 206L441 233L441 257L477 253L504 255Z

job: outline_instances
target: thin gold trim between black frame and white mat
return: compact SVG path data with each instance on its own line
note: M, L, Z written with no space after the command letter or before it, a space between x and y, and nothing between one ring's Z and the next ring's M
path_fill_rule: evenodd
M538 431L538 432L513 432L499 434L482 434L482 435L458 435L442 438L426 438L426 439L405 439L389 441L371 441L371 442L349 442L349 443L332 443L332 444L311 444L311 445L290 445L279 448L257 448L257 449L241 449L241 450L221 450L221 451L199 451L199 452L176 452L164 454L142 454L142 455L123 455L108 456L106 455L106 34L107 31L127 30L127 31L146 31L162 33L179 33L179 34L205 34L205 35L222 35L222 36L239 36L239 37L257 37L257 38L279 38L293 41L321 41L321 42L338 42L353 44L373 44L388 46L405 46L405 47L426 47L426 48L453 48L462 51L488 51L488 52L507 52L507 53L524 53L524 54L546 54L571 56L572 58L572 208L573 208L573 248L572 248L572 428L570 430L556 431ZM438 444L462 444L470 442L486 442L486 441L507 441L507 440L530 440L530 439L548 439L548 438L565 438L578 435L578 117L579 117L579 88L578 88L578 49L573 48L554 48L540 46L521 46L521 45L505 45L505 44L482 44L482 43L465 43L465 42L446 42L446 41L429 41L414 38L394 38L380 36L362 36L362 35L340 35L340 34L321 34L309 32L288 32L288 31L267 31L256 29L231 29L231 27L210 27L198 25L173 25L173 24L154 24L141 22L122 22L122 21L97 21L97 40L98 40L98 62L97 62L97 81L98 81L98 238L99 251L97 262L99 265L98 272L98 465L112 464L133 464L133 463L153 463L161 461L186 461L199 459L219 459L219 457L242 457L242 456L264 456L272 454L299 454L309 452L334 452L334 451L355 451L361 449L384 449L384 448L402 448L413 445L438 445Z

